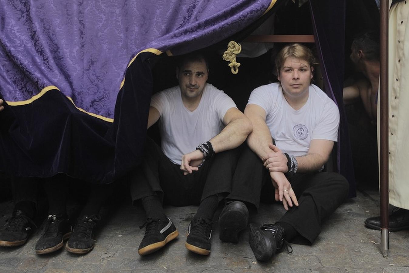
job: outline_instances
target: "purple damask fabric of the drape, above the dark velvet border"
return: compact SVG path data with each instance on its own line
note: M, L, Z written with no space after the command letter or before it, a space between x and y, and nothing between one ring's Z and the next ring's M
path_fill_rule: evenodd
M1 0L0 93L24 101L54 85L77 107L113 118L139 51L177 55L212 45L260 18L271 2Z

